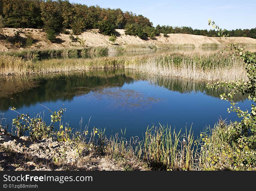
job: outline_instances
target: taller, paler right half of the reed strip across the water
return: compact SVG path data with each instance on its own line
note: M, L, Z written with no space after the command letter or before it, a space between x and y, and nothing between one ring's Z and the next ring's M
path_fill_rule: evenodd
M206 81L232 81L247 79L243 62L229 55L182 55L171 54L148 57L146 64L141 61L127 66L147 74L175 76Z

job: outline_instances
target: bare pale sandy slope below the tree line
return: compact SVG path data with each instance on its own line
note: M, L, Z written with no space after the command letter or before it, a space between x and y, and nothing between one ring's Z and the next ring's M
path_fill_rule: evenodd
M26 39L27 35L31 35L34 39L33 45L26 47L26 49L58 49L58 48L71 48L81 46L112 46L113 42L109 41L109 36L99 34L98 29L90 29L83 32L78 37L83 41L81 45L79 42L71 42L69 35L60 34L57 36L57 43L51 43L46 38L46 33L42 29L33 28L3 28L0 32L0 51L8 51L10 49L24 49L15 46L7 39L13 37L15 31L20 31L20 36ZM154 40L142 40L136 36L125 35L123 29L116 29L119 33L115 44L127 45L127 44L194 44L195 47L200 47L202 44L219 44L225 46L229 43L229 40L237 43L245 43L249 45L255 45L256 39L247 37L229 37L218 38L218 37L206 37L200 35L189 35L189 34L168 34L168 37L163 37L163 34L157 36ZM7 38L6 38L7 37Z

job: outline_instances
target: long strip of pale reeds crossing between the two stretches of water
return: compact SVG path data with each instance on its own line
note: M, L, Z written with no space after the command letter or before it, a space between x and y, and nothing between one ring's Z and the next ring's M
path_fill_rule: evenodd
M193 80L247 79L243 62L227 54L136 56L97 59L50 59L24 61L0 56L0 75L42 74L51 72L86 71L95 69L133 69L150 75L175 76Z

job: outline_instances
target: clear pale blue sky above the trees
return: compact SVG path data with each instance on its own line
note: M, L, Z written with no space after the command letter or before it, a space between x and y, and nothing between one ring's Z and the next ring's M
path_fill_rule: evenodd
M222 28L255 28L256 0L226 1L163 1L163 0L69 0L74 3L99 5L102 8L120 8L143 15L153 25L191 26L198 29L211 29L208 19Z

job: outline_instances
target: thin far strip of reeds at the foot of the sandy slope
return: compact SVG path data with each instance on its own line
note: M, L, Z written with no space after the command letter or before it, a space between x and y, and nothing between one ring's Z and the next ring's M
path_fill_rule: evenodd
M256 44L240 43L240 46L256 46ZM228 44L206 43L201 48L211 47L228 47ZM107 53L123 53L123 52L144 52L156 50L171 50L179 48L195 48L194 44L127 44L124 46L98 46L98 47L73 47L63 49L24 49L0 51L0 56L15 56L22 58L36 58L40 56L61 56L61 55L90 55L90 54L107 54Z

